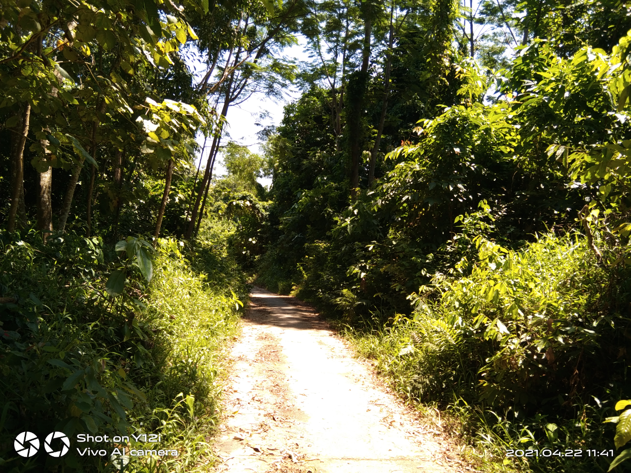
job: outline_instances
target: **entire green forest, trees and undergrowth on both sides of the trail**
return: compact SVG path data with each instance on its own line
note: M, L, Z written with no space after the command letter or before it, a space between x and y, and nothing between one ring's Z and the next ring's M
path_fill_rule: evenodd
M252 284L475 470L631 470L630 95L626 0L0 0L0 470L209 471Z

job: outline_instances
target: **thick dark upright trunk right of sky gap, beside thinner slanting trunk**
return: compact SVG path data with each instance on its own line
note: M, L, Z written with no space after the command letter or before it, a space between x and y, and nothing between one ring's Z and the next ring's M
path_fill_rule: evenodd
M349 117L350 120L348 120L350 122L351 197L357 196L357 191L359 189L359 161L362 155L360 128L363 110L363 96L365 95L366 85L368 83L368 65L370 60L370 35L372 30L372 21L369 12L366 12L365 15L362 68L360 69L359 74L356 73L357 75L354 78L354 103L351 104L351 117Z

